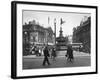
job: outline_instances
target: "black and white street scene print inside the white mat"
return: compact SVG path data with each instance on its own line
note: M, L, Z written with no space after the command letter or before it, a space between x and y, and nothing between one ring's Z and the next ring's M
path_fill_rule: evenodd
M23 10L23 69L91 66L91 14Z

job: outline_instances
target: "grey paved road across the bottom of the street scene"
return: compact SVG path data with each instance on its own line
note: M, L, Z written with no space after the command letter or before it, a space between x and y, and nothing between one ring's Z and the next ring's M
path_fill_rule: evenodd
M71 63L66 60L65 56L59 56L56 61L49 58L51 65L42 66L43 56L24 56L23 69L39 69L39 68L57 68L57 67L83 67L90 66L91 56L85 53L74 52L74 62Z

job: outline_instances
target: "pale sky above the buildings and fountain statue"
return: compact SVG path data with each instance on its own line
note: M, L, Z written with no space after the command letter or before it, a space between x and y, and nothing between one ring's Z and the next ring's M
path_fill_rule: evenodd
M23 11L23 24L28 23L29 21L35 20L43 27L51 26L54 31L54 19L56 19L56 36L59 36L60 27L63 30L63 36L72 35L73 28L80 25L82 20L86 19L86 16L89 17L89 13L71 13L71 12L47 12L47 11ZM49 17L49 23L48 23ZM84 18L85 17L85 18ZM65 21L62 26L60 25L61 18Z

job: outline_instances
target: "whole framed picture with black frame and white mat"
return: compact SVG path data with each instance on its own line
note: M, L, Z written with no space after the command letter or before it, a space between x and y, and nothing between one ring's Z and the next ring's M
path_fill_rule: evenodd
M97 7L12 2L12 77L97 73Z

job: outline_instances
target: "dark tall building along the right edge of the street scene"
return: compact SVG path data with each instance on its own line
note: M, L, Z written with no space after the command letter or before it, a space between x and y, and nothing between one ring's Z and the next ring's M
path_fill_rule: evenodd
M82 51L91 51L91 17L81 22L80 26L73 28L73 43L82 43Z

